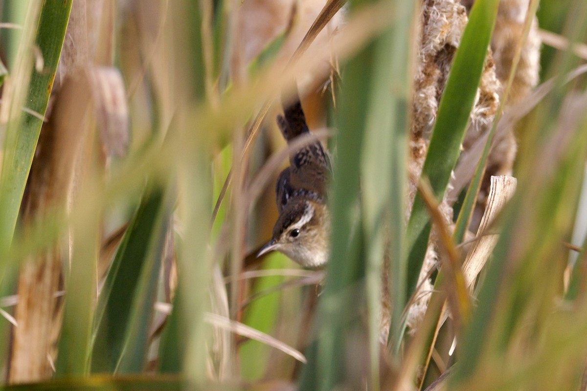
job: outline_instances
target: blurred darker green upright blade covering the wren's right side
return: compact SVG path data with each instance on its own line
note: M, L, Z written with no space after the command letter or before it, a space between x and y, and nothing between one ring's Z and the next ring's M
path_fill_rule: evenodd
M351 8L357 3L352 3ZM357 221L362 215L358 208L361 155L369 104L372 103L366 98L372 93L372 73L365 70L372 66L376 48L373 43L368 45L343 67L344 85L337 110L338 157L334 162L329 205L332 227L336 229L332 230L330 237L330 259L325 288L318 304L316 339L306 352L308 363L303 369L299 390L331 390L342 384L360 384L362 380L352 378L347 365L369 359L362 357L365 352L360 349L360 354L350 360L353 363L349 363L349 356L353 354L350 344L360 343L366 336L359 317L366 307L366 264L363 227ZM355 376L364 375L355 373Z

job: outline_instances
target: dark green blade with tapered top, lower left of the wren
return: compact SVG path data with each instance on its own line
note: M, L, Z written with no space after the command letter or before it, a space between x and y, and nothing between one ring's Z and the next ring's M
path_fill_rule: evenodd
M97 306L92 372L143 369L168 226L167 209L164 189L147 189L124 234Z

